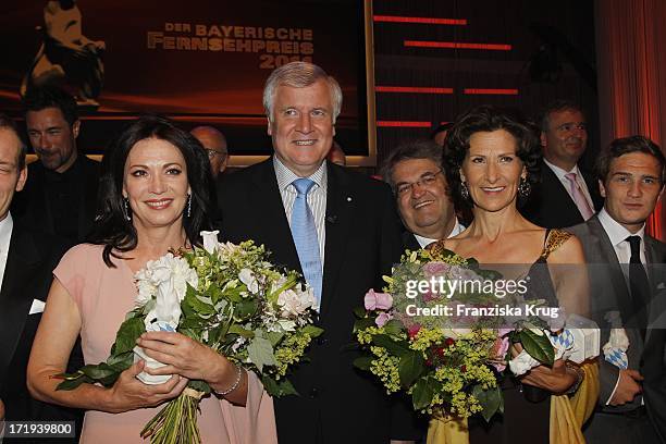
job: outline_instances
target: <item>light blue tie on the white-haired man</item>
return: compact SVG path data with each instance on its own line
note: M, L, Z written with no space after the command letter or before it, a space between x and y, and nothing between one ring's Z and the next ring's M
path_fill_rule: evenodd
M298 195L292 210L292 236L300 260L300 268L306 282L314 291L314 298L321 300L321 257L319 256L319 238L310 206L308 206L308 193L314 186L309 178L297 178L292 182Z

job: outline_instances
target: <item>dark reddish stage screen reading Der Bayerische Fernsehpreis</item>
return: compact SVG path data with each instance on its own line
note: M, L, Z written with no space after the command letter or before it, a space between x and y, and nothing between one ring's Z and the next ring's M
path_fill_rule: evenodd
M266 78L311 61L343 88L336 139L371 164L367 16L358 0L3 0L0 110L20 116L22 90L55 82L82 107L86 153L102 153L127 120L157 112L184 127L220 127L234 163L247 163L271 152Z

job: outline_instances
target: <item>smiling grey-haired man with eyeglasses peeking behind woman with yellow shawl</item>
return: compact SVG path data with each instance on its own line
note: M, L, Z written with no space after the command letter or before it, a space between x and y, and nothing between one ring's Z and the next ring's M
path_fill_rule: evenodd
M424 248L465 230L447 193L442 153L433 140L412 140L400 144L386 159L383 177L393 189L406 229L404 248Z

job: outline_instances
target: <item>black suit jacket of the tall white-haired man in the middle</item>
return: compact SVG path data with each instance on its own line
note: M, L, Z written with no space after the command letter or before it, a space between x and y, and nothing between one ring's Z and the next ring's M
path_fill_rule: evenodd
M264 244L274 263L300 271L272 159L229 174L219 201L223 237ZM329 164L325 225L319 318L324 333L310 346L310 361L291 377L300 396L275 399L280 442L386 444L392 433L415 439L411 422L392 419L392 403L373 377L354 368L358 355L348 347L353 309L363 305L369 288L383 286L381 275L400 257L400 225L388 187Z

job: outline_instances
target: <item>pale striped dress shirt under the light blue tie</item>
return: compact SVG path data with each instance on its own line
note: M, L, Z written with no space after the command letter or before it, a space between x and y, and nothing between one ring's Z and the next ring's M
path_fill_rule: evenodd
M278 178L278 188L280 189L280 196L282 197L282 206L284 212L292 226L292 210L294 209L294 201L298 193L293 182L297 178L301 178L299 175L294 173L292 170L286 168L284 163L278 159L278 156L273 156L273 168L275 169L275 177ZM326 217L326 189L328 189L328 172L326 162L324 161L319 169L309 175L310 181L314 182L314 185L308 193L308 206L312 211L312 218L314 218L314 226L317 227L317 237L319 238L319 257L321 258L321 267L324 263L324 246L326 245L326 229L325 229L325 217Z

